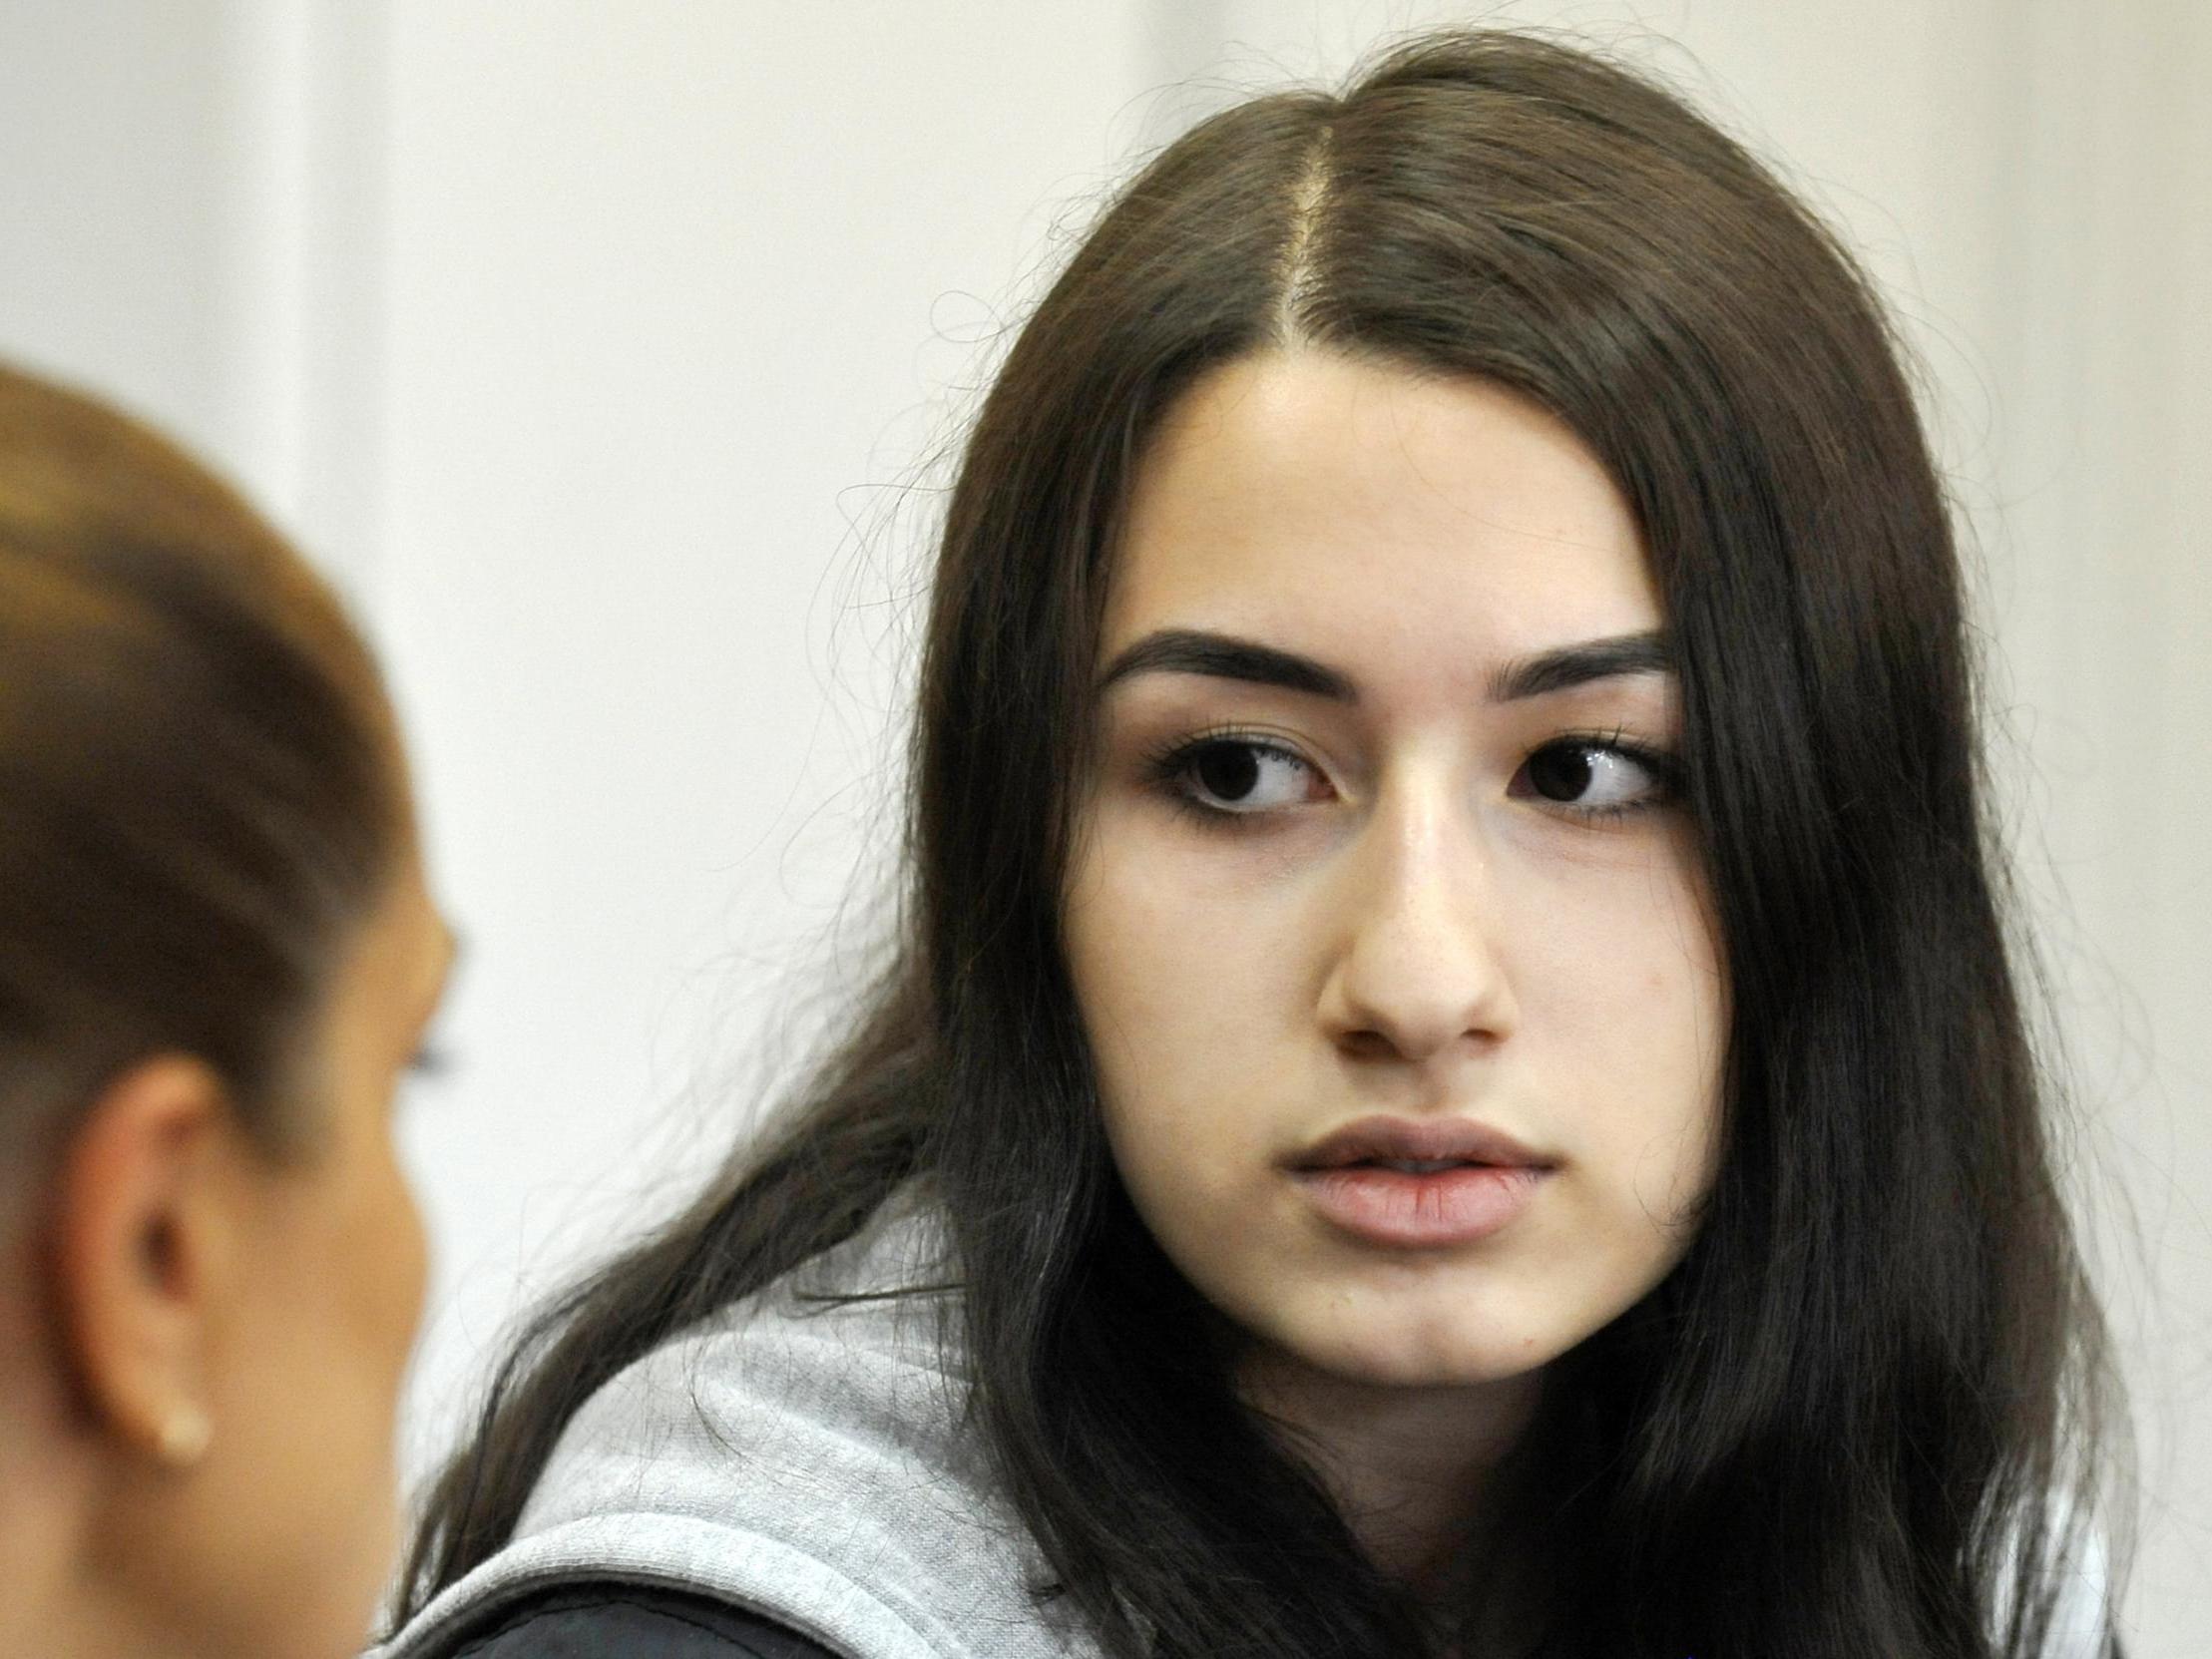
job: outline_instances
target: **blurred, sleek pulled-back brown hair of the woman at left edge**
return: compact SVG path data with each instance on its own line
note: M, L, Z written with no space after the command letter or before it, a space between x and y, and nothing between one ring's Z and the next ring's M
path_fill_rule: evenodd
M0 367L0 1166L35 1181L157 1053L270 1150L394 867L385 697L330 588L228 484ZM20 1194L15 1194L20 1203Z

